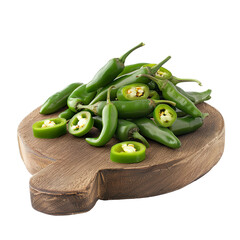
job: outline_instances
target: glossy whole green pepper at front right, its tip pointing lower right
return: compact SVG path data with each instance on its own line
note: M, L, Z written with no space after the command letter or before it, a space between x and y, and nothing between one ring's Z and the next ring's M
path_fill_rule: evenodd
M181 146L180 140L168 128L157 126L152 120L148 118L134 119L134 123L140 129L140 133L149 139L161 143L170 148L179 148Z

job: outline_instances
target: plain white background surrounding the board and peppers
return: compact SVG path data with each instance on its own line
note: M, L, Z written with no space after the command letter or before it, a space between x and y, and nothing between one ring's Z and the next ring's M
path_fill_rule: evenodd
M239 1L1 1L1 239L239 239ZM113 57L144 42L126 64L159 62L212 89L223 115L220 162L187 187L161 196L98 201L84 214L31 207L17 127L51 94L88 82ZM3 237L4 236L4 237Z

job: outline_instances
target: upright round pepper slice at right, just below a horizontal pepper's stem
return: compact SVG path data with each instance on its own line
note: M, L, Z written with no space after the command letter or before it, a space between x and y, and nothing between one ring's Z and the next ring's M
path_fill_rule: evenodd
M177 113L167 104L159 104L153 111L155 123L161 127L170 127L177 119Z

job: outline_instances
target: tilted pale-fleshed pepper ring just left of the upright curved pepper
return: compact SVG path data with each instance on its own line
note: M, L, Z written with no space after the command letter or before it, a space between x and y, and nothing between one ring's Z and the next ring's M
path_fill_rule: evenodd
M76 137L82 137L93 127L93 118L90 112L81 111L75 114L68 123L68 131Z

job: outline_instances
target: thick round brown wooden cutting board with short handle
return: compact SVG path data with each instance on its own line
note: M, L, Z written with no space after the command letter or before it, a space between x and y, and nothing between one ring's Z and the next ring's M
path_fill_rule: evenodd
M180 189L207 173L224 150L224 120L206 103L208 112L196 132L179 137L182 146L169 149L149 140L146 159L136 164L119 164L109 159L112 139L105 147L90 146L84 138L66 134L55 139L33 136L32 124L43 116L37 108L18 127L21 157L33 174L30 179L32 206L38 211L73 214L90 210L98 199L140 198ZM88 136L97 136L95 128Z

